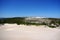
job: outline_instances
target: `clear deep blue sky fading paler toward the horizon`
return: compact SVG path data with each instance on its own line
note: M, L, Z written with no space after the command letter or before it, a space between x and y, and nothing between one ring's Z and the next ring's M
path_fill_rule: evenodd
M60 0L0 0L0 17L60 18Z

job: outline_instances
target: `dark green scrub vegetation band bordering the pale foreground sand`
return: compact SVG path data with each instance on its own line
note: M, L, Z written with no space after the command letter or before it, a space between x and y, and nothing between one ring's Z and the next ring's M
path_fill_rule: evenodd
M60 19L55 19L55 18L48 18L49 20L51 20L51 22L49 24L42 22L42 23L31 23L31 22L27 22L25 20L25 17L15 17L15 18L0 18L0 24L5 24L5 23L17 23L18 25L20 24L25 24L25 25L48 25L51 28L55 28L56 26L52 26L51 24L60 25Z

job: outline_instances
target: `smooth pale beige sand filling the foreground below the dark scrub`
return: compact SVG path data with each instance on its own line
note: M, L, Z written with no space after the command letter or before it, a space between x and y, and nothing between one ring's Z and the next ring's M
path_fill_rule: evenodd
M0 40L60 40L60 29L45 25L0 25Z

